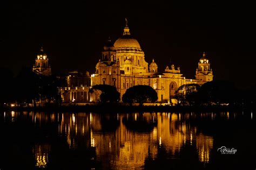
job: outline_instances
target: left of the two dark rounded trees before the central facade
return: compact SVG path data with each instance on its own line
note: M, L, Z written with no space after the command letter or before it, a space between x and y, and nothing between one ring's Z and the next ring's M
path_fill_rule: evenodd
M114 103L118 102L120 100L120 93L117 91L117 88L114 86L110 86L107 84L97 84L92 87L90 90L90 93L95 92L99 90L99 100L100 103Z

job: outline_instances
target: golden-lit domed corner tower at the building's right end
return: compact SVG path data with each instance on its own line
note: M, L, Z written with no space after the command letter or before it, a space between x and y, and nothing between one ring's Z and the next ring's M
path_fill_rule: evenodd
M200 85L207 81L213 80L212 68L210 67L209 60L206 58L205 52L198 63L198 68L196 70L196 80Z

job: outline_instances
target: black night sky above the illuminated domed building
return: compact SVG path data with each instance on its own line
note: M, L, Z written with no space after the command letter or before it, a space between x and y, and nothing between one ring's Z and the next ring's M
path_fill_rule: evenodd
M218 1L8 1L0 4L0 67L32 66L43 44L53 74L90 70L104 42L122 36L125 17L145 59L160 70L171 62L194 79L205 51L214 79L255 84L252 4Z

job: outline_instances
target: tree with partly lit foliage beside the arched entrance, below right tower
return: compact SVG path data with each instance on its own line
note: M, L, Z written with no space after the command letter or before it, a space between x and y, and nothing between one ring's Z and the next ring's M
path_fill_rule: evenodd
M184 84L175 91L174 98L181 105L194 105L197 100L197 91L199 88L200 86L198 84Z

